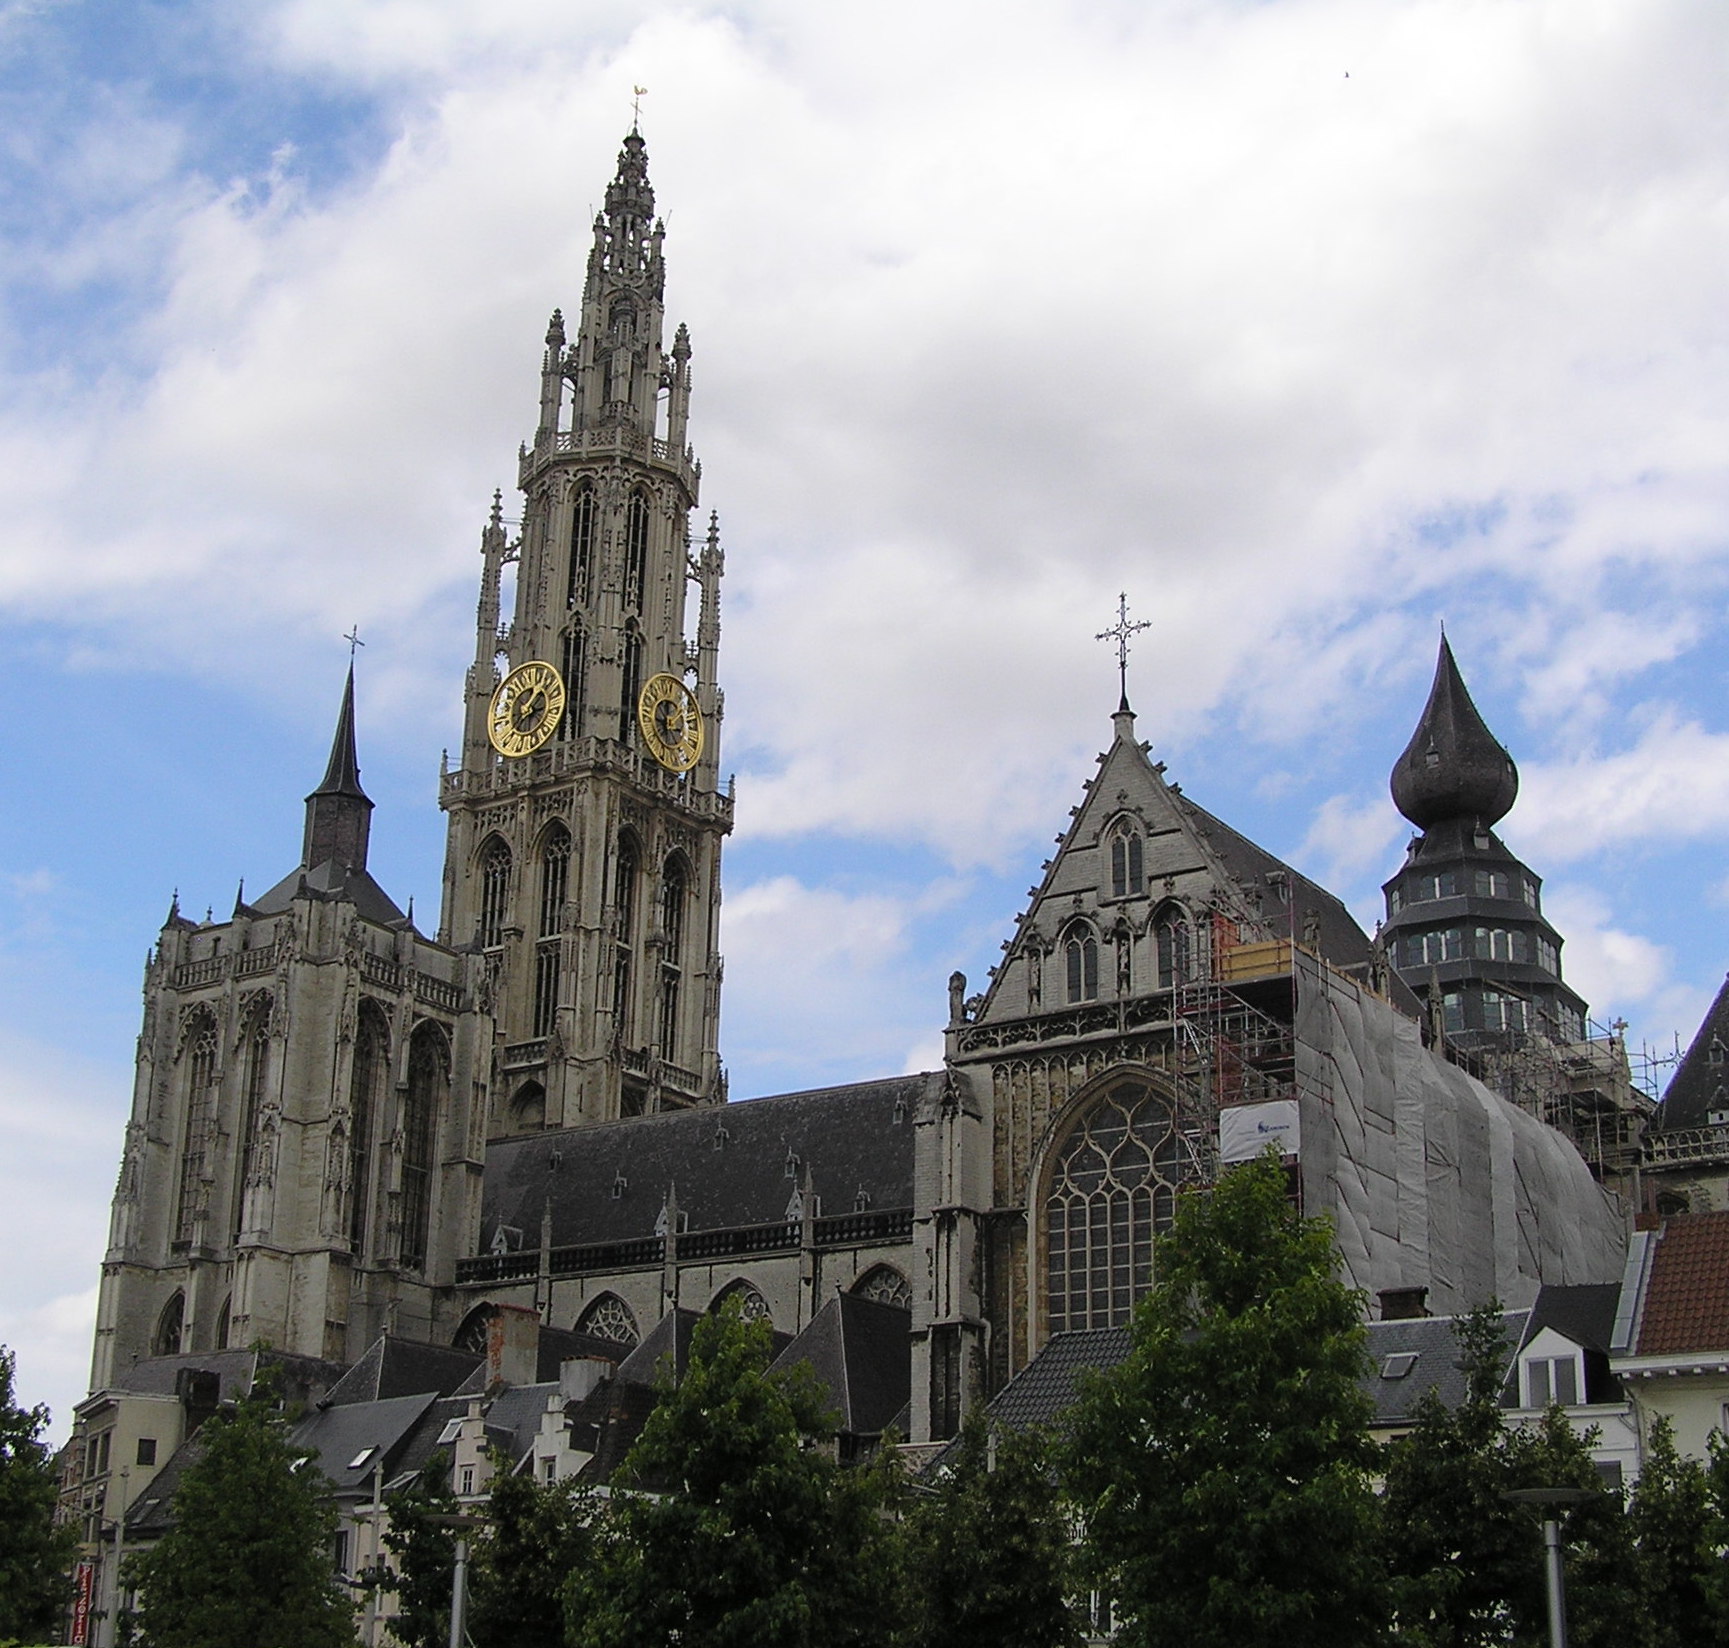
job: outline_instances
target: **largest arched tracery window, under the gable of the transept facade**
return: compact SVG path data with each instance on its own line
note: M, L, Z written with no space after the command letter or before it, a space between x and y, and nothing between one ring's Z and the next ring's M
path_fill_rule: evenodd
M1044 1306L1051 1333L1115 1328L1153 1285L1153 1235L1202 1164L1171 1098L1122 1076L1056 1147L1044 1197Z

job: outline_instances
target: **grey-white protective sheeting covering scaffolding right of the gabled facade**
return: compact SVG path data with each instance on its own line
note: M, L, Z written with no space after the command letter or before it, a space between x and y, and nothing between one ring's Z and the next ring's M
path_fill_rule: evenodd
M1537 1285L1617 1281L1613 1198L1573 1145L1423 1046L1421 1027L1297 955L1304 1204L1330 1212L1347 1280L1428 1288L1437 1314Z

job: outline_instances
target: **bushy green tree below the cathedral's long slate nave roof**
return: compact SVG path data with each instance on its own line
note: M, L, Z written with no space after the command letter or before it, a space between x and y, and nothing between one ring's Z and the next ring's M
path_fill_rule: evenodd
M569 1582L581 1648L852 1648L892 1641L901 1562L892 1461L835 1463L809 1370L768 1373L766 1321L697 1325Z

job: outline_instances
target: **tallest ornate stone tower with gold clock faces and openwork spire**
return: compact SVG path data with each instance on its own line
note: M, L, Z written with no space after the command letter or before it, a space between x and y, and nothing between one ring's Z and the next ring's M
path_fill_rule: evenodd
M546 330L520 533L494 500L481 534L462 763L441 790L441 937L486 958L491 1136L724 1096L723 555L712 519L690 541L690 334L662 348L662 235L633 130L576 339L557 310Z

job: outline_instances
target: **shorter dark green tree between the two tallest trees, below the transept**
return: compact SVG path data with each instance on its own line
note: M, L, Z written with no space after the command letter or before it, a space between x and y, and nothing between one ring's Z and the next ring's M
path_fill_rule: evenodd
M906 1518L913 1648L1069 1648L1074 1544L1039 1432L973 1409L947 1477Z

